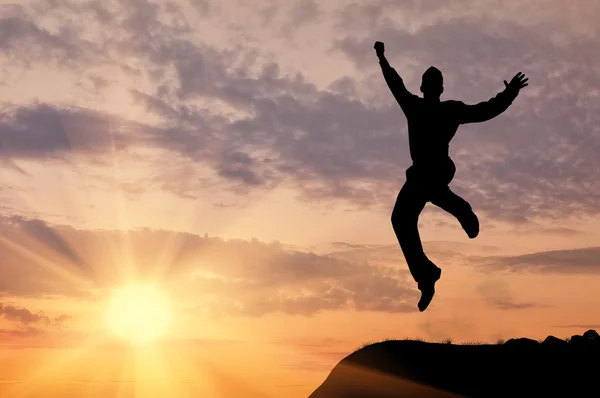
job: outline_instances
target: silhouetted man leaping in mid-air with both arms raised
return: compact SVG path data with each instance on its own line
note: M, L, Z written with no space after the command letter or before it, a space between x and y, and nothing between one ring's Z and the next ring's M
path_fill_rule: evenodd
M466 105L460 101L440 101L444 91L442 72L433 66L423 73L423 98L409 92L402 78L384 56L382 42L375 51L385 81L408 121L408 140L413 164L406 170L406 182L398 194L392 212L392 226L413 278L421 291L419 310L424 311L435 294L435 282L442 270L423 252L417 223L425 204L431 202L458 219L469 238L479 234L479 220L471 205L448 186L456 168L448 148L458 126L490 120L504 112L527 86L519 72L505 90L487 102Z

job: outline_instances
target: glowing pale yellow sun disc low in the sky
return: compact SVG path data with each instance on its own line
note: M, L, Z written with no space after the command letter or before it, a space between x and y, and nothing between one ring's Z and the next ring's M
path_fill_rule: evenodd
M158 340L167 331L172 317L168 298L150 284L115 290L106 315L108 328L134 345Z

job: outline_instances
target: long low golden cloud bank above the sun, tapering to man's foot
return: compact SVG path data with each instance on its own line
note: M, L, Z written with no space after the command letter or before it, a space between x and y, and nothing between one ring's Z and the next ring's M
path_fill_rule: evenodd
M7 225L8 224L8 225ZM197 311L215 316L262 316L281 312L412 312L417 292L405 270L289 250L282 244L152 230L84 231L47 226L77 249L91 271L73 268L48 251L54 235L0 223L0 293L95 300L123 283L123 258L142 279L160 281ZM31 246L30 239L37 241ZM166 245L165 242L171 242ZM36 247L37 257L29 251ZM32 278L31 275L35 275ZM198 304L194 304L198 305Z

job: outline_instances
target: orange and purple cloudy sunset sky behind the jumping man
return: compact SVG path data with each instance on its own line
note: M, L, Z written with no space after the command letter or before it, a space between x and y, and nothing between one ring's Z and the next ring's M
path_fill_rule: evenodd
M301 398L369 341L600 329L598 20L594 0L0 1L0 396ZM529 78L451 143L481 233L426 207L423 313L376 40L415 94L431 65L472 104ZM111 307L140 284L156 296ZM168 319L123 338L144 307Z

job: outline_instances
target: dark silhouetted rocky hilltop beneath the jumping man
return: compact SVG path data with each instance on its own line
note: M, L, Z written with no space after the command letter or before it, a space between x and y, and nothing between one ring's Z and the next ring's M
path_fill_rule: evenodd
M600 336L504 344L385 341L344 358L309 398L600 397Z

